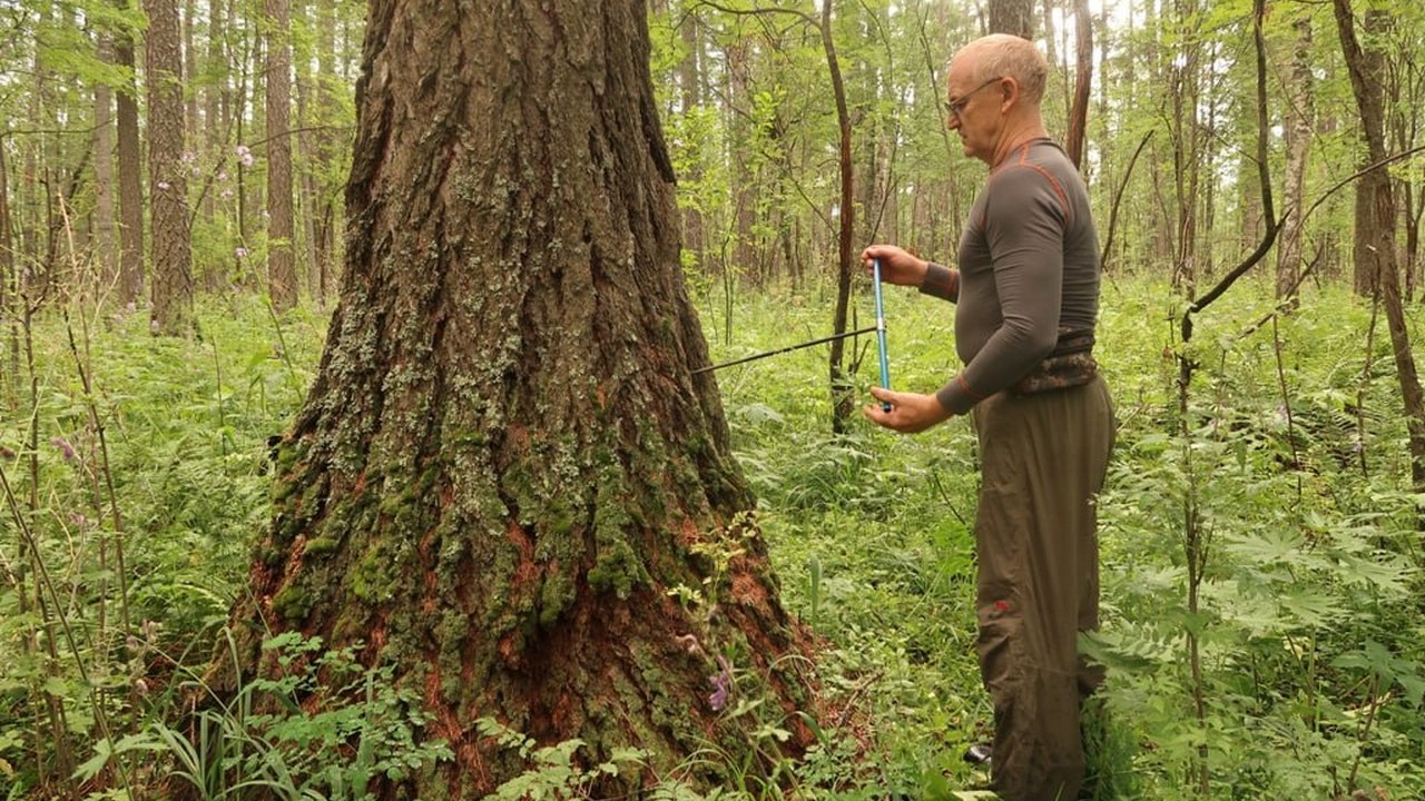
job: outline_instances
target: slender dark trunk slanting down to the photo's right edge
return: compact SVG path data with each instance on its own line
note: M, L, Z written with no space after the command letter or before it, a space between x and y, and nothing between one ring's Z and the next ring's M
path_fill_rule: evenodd
M1385 108L1381 103L1381 73L1378 71L1381 61L1372 58L1361 47L1355 34L1351 0L1334 0L1334 6L1341 50L1345 53L1347 70L1351 73L1351 88L1361 114L1367 162L1382 164L1385 161ZM1378 10L1367 11L1367 30L1385 23L1381 19L1375 19L1372 23L1372 17L1378 17L1381 13ZM1362 271L1368 271L1374 277L1369 285L1379 292L1381 305L1385 308L1391 349L1395 355L1395 376L1405 402L1411 477L1415 492L1425 492L1425 392L1421 389L1415 353L1411 351L1408 321L1401 302L1399 265L1395 258L1395 198L1391 194L1389 172L1384 168L1368 171L1357 185L1357 194L1355 255L1358 261L1355 272L1359 277ZM1358 288L1359 284L1358 278Z

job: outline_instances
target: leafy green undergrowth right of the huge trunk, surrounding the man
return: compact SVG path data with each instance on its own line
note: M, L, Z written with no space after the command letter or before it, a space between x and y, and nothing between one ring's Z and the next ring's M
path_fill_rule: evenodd
M1121 428L1100 500L1104 623L1084 641L1109 666L1090 734L1096 797L1197 797L1183 777L1203 745L1213 798L1412 797L1425 788L1419 499L1388 343L1364 352L1369 309L1328 291L1281 321L1278 373L1271 326L1254 326L1270 289L1245 286L1200 326L1181 433L1173 329L1156 322L1174 295L1106 285L1099 353ZM888 301L893 383L933 389L953 369L950 309ZM714 361L821 334L801 302L744 304L742 336ZM718 373L782 599L828 639L834 708L852 706L846 721L875 731L868 744L865 730L821 721L835 734L797 775L836 798L932 797L946 782L940 797L955 797L983 781L958 754L990 720L973 660L973 436L956 420L918 438L832 438L822 359L812 349ZM1196 613L1188 497L1210 537ZM1190 631L1204 643L1206 728ZM834 757L845 748L858 757Z

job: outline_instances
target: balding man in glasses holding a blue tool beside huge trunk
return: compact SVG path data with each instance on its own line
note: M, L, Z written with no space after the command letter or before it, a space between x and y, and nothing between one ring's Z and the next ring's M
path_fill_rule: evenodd
M1010 801L1072 800L1083 784L1082 700L1097 677L1077 633L1097 626L1093 497L1113 410L1092 349L1099 241L1073 162L1045 131L1047 64L1029 41L989 36L950 60L949 127L989 164L959 244L959 269L891 245L886 282L958 304L963 371L932 395L871 393L876 423L921 432L972 415L982 485L975 520L980 676L995 704L990 772Z

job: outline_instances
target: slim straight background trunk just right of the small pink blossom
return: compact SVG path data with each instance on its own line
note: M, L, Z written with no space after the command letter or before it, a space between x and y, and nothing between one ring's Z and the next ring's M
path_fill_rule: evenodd
M266 0L268 291L272 306L296 305L292 247L292 7Z

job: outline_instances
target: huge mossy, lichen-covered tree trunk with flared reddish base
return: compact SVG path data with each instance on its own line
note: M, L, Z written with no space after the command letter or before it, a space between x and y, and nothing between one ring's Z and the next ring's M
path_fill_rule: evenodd
M520 770L480 717L590 760L637 745L664 771L714 743L740 765L721 660L788 747L811 737L801 640L690 372L647 36L644 0L370 4L345 281L234 617L247 668L268 624L393 666L456 754L412 797Z

